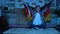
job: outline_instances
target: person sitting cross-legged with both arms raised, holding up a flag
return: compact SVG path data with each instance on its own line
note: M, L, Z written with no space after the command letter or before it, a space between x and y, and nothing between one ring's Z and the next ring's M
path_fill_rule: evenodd
M49 5L49 4L46 4L46 5ZM37 5L35 8L29 6L28 3L27 3L27 5L28 5L28 8L33 10L33 11L30 11L32 13L32 21L29 23L29 25L36 30L44 29L46 27L46 23L44 21L44 13L47 10L45 8L46 5L43 6L43 7L40 7L40 6ZM24 4L24 6L26 7L25 4Z

